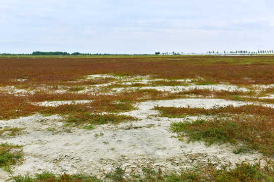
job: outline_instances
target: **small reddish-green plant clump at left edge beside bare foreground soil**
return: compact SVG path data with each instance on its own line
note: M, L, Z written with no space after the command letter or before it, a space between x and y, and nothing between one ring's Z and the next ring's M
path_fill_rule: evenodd
M22 146L12 145L8 143L0 144L0 167L13 165L22 157L21 151L11 153L11 149L20 149Z

